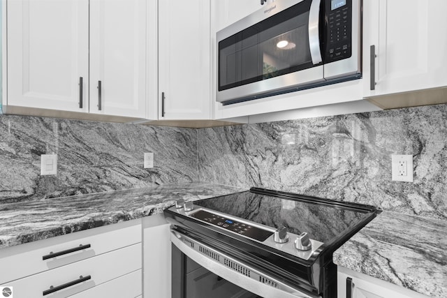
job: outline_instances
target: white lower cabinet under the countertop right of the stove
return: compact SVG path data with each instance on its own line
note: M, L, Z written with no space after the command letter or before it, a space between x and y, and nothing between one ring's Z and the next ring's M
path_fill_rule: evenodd
M351 281L350 283L348 281ZM349 295L351 286L351 295ZM418 292L372 276L337 267L338 298L427 298Z

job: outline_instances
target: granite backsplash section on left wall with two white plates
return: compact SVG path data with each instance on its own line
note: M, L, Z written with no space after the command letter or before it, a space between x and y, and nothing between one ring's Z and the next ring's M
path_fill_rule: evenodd
M58 155L57 175L40 175L41 154ZM0 115L0 177L0 202L196 181L197 131Z

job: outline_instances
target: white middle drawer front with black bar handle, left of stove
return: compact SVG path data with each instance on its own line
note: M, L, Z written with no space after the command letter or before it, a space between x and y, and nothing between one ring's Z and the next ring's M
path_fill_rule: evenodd
M94 258L58 267L33 276L5 283L1 286L13 287L14 298L62 298L102 285L114 278L141 269L142 246L133 244L125 248L103 253ZM43 295L51 287L59 287L67 283L80 281L80 276L88 278L57 292Z

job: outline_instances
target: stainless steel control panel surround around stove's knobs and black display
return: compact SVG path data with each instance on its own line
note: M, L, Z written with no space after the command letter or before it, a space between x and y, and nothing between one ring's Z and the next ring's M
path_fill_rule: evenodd
M256 239L252 239L247 237L248 239L250 239L251 241L256 241L258 243L264 244L265 246L269 246L270 248L274 248L277 249L278 251L283 251L284 253L288 253L289 255L294 255L297 258L300 258L302 260L309 260L310 258L312 258L312 256L318 255L318 251L321 246L323 246L323 242L314 240L314 239L309 239L309 241L312 244L312 249L309 249L309 251L299 251L298 249L295 248L295 242L294 241L288 241L286 243L277 243L274 241L274 232L277 230L276 228L272 228L269 227L268 225L262 225L261 223L254 223L253 221L246 221L242 218L238 218L235 216L230 216L228 214L224 214L221 213L219 211L214 211L212 209L207 209L207 208L203 208L203 207L199 207L194 205L194 209L193 211L185 211L184 209L176 209L175 206L174 207L170 207L170 211L176 212L177 214L182 214L183 216L187 216L192 218L191 214L194 214L197 211L200 210L204 210L207 212L210 212L212 214L216 214L217 216L223 216L225 218L228 218L232 221L238 221L240 223L244 223L246 225L251 225L252 227L256 227L256 228L260 228L269 232L272 232L272 236L268 237L268 239L265 239L265 241L258 241ZM206 221L201 221L198 218L193 218L195 221L200 221L201 223L206 223L207 225L210 225L210 223L206 222ZM173 223L175 224L175 223ZM232 232L237 234L236 232L230 231L230 230L226 230L225 228L221 228L217 225L213 225L216 228L228 231L228 232ZM241 237L246 237L243 234L237 234ZM293 234L291 232L288 232L288 237L290 237L291 239L296 239L298 237L298 234Z

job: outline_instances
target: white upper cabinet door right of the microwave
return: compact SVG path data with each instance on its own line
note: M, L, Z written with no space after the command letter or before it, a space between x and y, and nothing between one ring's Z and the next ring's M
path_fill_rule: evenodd
M378 96L447 85L446 0L369 1L374 22L366 28L375 45L375 90ZM369 48L367 61L369 64ZM369 69L369 65L368 65ZM374 69L373 69L374 70Z

